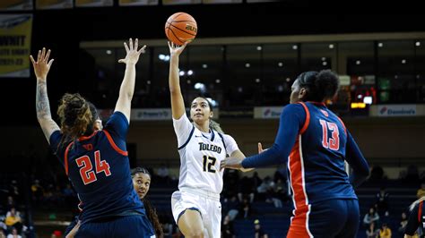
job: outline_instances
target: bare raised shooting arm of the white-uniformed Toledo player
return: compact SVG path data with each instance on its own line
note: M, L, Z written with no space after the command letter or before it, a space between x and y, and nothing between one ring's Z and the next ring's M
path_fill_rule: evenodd
M186 45L187 43L178 47L169 42L169 93L171 96L171 112L174 119L180 119L186 113L185 101L180 89L180 77L178 76L178 57Z

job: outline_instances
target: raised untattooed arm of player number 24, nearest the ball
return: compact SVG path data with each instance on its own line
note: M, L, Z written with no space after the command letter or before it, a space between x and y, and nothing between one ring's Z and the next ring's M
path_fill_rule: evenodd
M144 53L146 46L143 46L140 49L138 39L134 40L130 38L129 46L124 42L124 47L126 48L126 58L118 60L119 63L126 64L126 72L124 74L124 80L121 83L121 88L119 89L119 97L117 100L117 105L115 106L115 111L119 111L126 115L128 123L130 123L130 112L131 112L131 99L134 94L134 84L135 84L135 64L139 61L140 54Z

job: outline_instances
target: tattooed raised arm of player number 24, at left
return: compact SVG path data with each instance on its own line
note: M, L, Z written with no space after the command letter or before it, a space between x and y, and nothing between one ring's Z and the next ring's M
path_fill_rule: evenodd
M50 66L53 63L53 59L48 60L50 56L50 50L46 52L46 48L43 47L42 50L39 50L39 55L37 56L37 61L34 60L32 55L30 55L30 60L32 66L34 67L34 73L37 77L37 90L36 90L36 110L37 110L37 119L39 120L39 125L43 130L46 139L49 141L50 135L59 130L59 126L53 121L52 115L50 113L50 104L48 102L48 71Z

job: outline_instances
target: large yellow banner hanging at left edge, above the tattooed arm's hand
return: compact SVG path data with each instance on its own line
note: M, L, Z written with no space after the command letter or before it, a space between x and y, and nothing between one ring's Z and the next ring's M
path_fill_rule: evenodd
M0 77L30 77L31 14L0 14Z

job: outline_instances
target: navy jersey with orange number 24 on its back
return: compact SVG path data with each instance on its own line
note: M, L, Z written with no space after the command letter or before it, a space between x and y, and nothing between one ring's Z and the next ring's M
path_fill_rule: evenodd
M126 152L126 116L115 112L102 131L59 147L62 134L53 132L50 147L65 166L81 200L83 223L104 217L144 214L134 191Z

